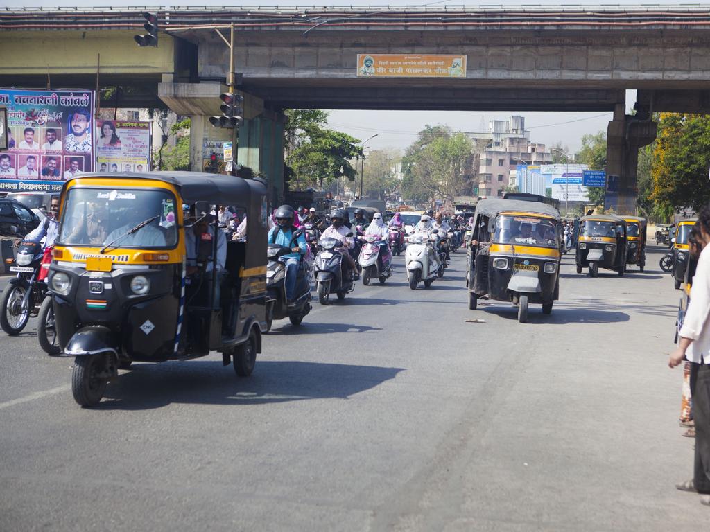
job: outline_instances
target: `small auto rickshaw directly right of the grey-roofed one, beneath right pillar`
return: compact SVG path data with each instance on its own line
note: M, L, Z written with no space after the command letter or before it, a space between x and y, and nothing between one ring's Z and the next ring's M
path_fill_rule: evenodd
M577 273L581 273L583 268L589 268L589 275L596 277L599 268L606 268L623 277L627 250L626 221L623 218L603 214L579 218Z

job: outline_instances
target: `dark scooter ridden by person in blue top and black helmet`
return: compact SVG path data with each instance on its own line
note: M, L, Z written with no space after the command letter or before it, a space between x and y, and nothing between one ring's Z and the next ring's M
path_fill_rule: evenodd
M311 310L311 282L313 280L313 263L303 257L298 267L296 277L295 297L292 304L286 301L286 265L280 257L292 253L285 245L269 244L266 249L268 265L266 266L266 331L271 331L275 319L288 317L292 325L300 325L303 318Z

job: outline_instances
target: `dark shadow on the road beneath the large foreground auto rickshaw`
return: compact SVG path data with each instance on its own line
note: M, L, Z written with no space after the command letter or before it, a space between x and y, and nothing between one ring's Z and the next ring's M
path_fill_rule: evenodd
M251 377L236 377L218 360L134 364L109 383L98 410L148 410L174 403L231 406L306 399L348 399L394 379L401 367L256 360Z

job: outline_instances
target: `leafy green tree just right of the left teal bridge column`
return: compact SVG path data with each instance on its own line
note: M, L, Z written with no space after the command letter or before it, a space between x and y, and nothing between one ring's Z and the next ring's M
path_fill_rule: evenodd
M285 164L292 189L327 187L340 177L354 181L351 160L362 156L359 140L326 128L324 111L286 111Z

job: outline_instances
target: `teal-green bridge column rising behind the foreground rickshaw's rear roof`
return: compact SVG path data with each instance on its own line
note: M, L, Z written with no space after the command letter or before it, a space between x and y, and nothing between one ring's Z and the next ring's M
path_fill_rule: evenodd
M261 173L269 184L273 205L283 201L283 113L263 111L256 118L245 119L239 128L237 160L240 165Z

